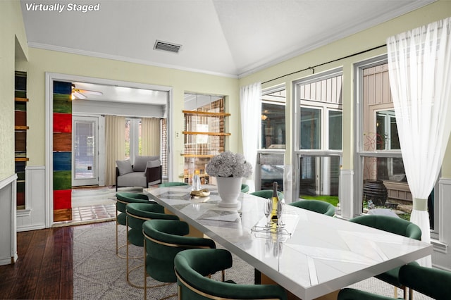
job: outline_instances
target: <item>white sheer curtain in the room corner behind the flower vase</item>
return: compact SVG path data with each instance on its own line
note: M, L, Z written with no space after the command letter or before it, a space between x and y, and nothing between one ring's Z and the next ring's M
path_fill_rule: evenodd
M255 171L261 124L261 82L240 89L242 149L246 161L252 164L252 176L247 178L249 192L255 191Z

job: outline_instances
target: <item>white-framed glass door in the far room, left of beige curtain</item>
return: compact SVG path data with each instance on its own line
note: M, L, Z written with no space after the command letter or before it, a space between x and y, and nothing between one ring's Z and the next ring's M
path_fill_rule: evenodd
M99 118L73 115L72 185L99 185Z

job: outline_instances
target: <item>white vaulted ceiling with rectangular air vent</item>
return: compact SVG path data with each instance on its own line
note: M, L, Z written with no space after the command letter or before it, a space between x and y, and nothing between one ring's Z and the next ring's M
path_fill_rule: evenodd
M98 11L74 11L99 4ZM242 77L429 0L21 0L28 45ZM44 4L43 6L36 6ZM42 11L56 8L58 11ZM50 5L50 6L47 6ZM70 9L70 10L69 10ZM181 45L155 50L156 40Z

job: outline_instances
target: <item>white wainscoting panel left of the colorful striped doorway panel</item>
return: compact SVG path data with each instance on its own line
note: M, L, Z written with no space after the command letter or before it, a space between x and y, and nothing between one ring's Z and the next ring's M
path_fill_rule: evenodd
M27 166L25 182L25 209L17 211L17 231L45 228L45 166Z

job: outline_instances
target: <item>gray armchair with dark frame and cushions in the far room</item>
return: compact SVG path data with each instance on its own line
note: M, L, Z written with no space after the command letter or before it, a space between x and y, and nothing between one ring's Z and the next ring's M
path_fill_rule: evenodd
M116 192L118 187L149 187L161 182L159 156L137 156L133 165L129 160L116 161Z

